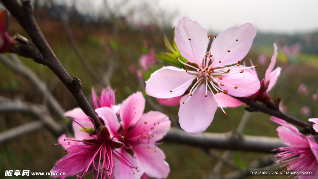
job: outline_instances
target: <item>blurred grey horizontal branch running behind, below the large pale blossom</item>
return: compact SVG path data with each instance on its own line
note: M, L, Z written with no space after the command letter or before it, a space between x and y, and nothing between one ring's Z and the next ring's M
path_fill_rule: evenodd
M202 132L197 135L189 134L181 129L171 128L163 138L165 142L176 142L201 148L219 148L272 153L271 150L286 145L276 137L242 135L241 139L233 139L231 132L212 133Z

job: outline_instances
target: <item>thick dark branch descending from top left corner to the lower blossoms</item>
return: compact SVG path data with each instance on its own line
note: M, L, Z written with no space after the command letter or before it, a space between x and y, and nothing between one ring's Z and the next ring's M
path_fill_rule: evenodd
M59 77L67 89L73 94L81 109L86 113L86 115L93 118L95 124L99 127L100 121L98 120L92 106L88 103L81 90L72 88L73 85L71 85L71 76L66 72L59 60L56 58L51 47L40 31L34 19L33 7L30 1L23 1L22 4L20 4L17 0L1 0L1 2L10 11L12 16L17 19L20 25L29 34L33 44L41 52L43 59L34 60L48 66Z

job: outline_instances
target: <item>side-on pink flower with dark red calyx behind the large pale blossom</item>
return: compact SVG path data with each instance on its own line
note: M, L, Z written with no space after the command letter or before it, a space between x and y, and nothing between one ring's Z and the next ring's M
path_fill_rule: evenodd
M273 88L275 83L277 82L277 79L280 75L281 68L277 67L275 70L274 66L276 63L276 57L277 57L277 45L274 43L274 54L271 59L271 63L269 64L268 68L266 69L265 73L265 79L263 79L260 82L260 88L259 90L247 98L253 100L253 101L260 101L263 103L266 103L267 100L272 100L271 96L268 94L268 92ZM252 63L252 61L251 61ZM254 68L252 69L246 69L246 71L250 72L251 74L255 75L258 78L258 75L256 73L256 70ZM225 95L223 93L219 93L215 95L218 100L220 101L220 104L222 107L238 107L242 104L243 102L230 97L229 95Z

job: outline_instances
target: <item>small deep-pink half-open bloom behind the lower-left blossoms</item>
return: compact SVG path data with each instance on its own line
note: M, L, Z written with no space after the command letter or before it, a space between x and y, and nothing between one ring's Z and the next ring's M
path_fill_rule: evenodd
M107 86L107 88L102 89L100 93L100 97L96 95L96 91L94 91L94 88L93 88L92 97L93 97L93 105L95 109L100 107L109 107L116 114L119 114L121 104L115 105L115 92L113 89L110 88L110 86Z

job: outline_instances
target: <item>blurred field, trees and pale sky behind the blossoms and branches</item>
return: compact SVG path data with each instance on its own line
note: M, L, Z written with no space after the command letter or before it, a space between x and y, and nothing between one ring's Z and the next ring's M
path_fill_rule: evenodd
M272 98L281 99L280 110L294 118L308 122L318 117L318 16L317 1L167 1L167 0L33 0L38 26L61 64L84 87L84 94L92 104L92 87L100 90L110 85L116 90L116 104L132 93L142 91L146 111L159 110L169 115L172 126L178 127L179 107L159 105L156 98L144 92L144 81L166 62L154 58L169 52L164 44L164 34L172 43L172 29L179 18L189 16L200 23L208 33L219 32L250 22L258 29L250 52L244 58L259 67L259 79L273 55L273 43L279 47L276 66L281 75L270 91ZM10 16L10 36L27 33ZM6 54L8 55L8 54ZM147 57L147 58L146 58ZM19 57L45 83L49 91L67 111L78 107L72 94L52 71L31 59ZM275 67L276 68L276 67ZM97 76L97 77L96 77ZM60 118L48 105L47 100L24 75L16 73L0 62L0 95L32 104L47 106L58 122L70 123ZM218 109L206 132L229 132L236 130L244 106L228 108L225 116ZM278 125L269 121L269 115L253 112L243 131L246 135L277 137ZM0 132L36 120L28 113L0 113ZM72 134L72 129L69 129ZM66 153L54 146L57 138L47 129L39 129L17 138L2 141L0 145L0 178L5 170L30 170L49 172L56 160ZM216 174L234 171L224 166L216 169L223 150L213 150L164 143L160 148L170 165L169 179L211 179ZM251 162L268 156L265 153L231 151L228 159L242 168ZM14 176L15 177L15 176ZM21 176L20 176L21 177ZM276 176L271 178L285 178ZM8 177L9 178L9 177ZM15 177L18 178L18 177ZM23 177L24 178L24 177ZM49 176L29 176L49 178ZM72 178L72 177L70 177ZM76 178L76 177L73 177ZM270 178L249 177L249 178Z

